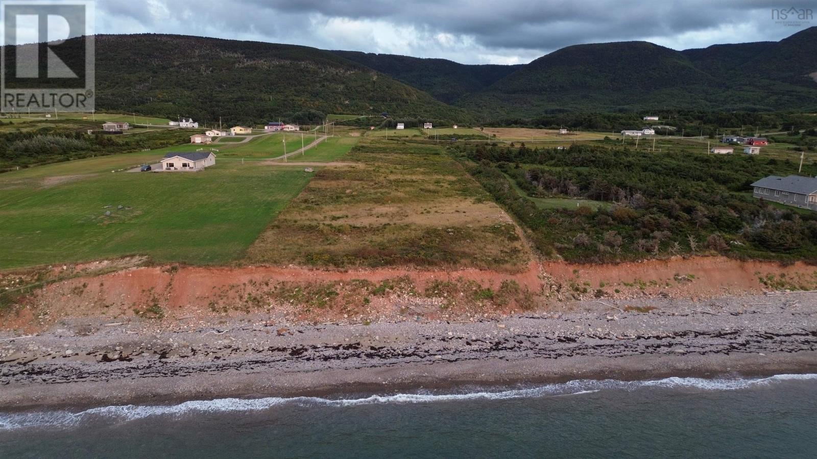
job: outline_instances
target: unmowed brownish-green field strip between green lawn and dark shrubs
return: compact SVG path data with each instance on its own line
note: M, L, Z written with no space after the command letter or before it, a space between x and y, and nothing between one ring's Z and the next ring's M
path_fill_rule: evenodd
M319 170L248 262L526 268L516 225L442 148L364 138L344 159L357 164Z

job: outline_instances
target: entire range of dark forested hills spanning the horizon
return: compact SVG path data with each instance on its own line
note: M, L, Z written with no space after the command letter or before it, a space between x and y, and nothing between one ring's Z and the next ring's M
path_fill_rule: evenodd
M96 36L97 108L203 122L388 112L469 123L562 112L817 111L817 27L675 51L565 47L527 65L324 51L181 35Z

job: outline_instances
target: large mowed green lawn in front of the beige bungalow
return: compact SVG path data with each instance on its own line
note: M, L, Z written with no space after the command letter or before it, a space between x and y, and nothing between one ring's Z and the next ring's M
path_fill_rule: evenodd
M193 173L104 172L114 162L149 156L122 154L2 174L0 268L130 254L156 262L234 261L311 176L301 167L237 161ZM72 172L92 175L47 182Z

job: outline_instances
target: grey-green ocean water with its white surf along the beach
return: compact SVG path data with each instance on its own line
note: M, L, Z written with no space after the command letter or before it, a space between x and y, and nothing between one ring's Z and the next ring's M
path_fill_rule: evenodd
M817 457L817 375L0 413L0 457Z

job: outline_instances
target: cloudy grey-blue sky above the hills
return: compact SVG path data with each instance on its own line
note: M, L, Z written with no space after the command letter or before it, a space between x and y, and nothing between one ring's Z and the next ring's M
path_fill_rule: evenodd
M817 25L772 10L812 1L96 0L97 33L180 33L465 64L516 64L560 47L646 40L673 49L779 40Z

